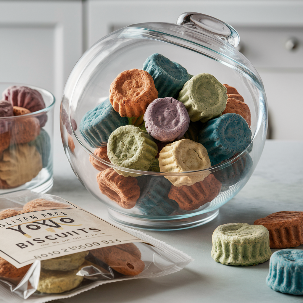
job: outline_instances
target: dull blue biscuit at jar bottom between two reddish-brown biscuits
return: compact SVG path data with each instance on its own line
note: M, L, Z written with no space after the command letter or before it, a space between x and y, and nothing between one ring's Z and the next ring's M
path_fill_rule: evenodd
M164 177L152 176L142 192L136 207L147 216L168 216L178 208L178 203L168 198L171 182Z

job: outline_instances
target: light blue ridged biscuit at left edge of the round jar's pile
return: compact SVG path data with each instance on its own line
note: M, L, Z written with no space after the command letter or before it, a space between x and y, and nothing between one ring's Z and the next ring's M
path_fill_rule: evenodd
M128 125L128 118L116 112L109 98L88 111L80 122L80 133L94 148L107 145L108 137L118 127Z

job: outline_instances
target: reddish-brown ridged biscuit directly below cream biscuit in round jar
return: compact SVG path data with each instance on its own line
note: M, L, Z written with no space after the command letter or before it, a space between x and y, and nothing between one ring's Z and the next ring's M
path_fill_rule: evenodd
M210 174L203 181L190 186L171 185L168 198L175 200L181 209L195 210L215 199L219 195L221 186L215 176Z

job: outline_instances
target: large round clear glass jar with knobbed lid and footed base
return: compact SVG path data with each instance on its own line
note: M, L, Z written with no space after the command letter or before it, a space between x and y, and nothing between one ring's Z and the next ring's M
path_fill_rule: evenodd
M246 184L265 144L268 112L261 78L235 49L238 42L238 33L230 25L207 15L188 12L179 16L177 24L141 23L119 29L96 42L77 62L66 82L61 103L62 142L76 176L92 195L108 206L112 220L150 230L191 228L214 219L220 206ZM228 161L211 168L178 173L123 168L95 155L95 148L79 132L82 117L108 98L109 87L120 72L142 69L146 58L153 53L178 62L191 75L209 73L221 84L235 87L251 111L251 144ZM128 194L138 188L137 185L140 188L134 207L122 208L113 201L115 198L109 198L113 195L100 192L99 171L91 162L96 167L105 165L105 168L135 174L135 177L124 177L134 182ZM179 190L174 188L173 193L168 181L170 178L200 178L208 173L212 181L207 189L195 186L197 182L178 187ZM197 209L181 209L176 201L185 198L194 201Z

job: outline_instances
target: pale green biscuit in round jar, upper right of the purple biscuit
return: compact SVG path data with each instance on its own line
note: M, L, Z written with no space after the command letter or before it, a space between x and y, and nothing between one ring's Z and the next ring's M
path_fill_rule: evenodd
M210 74L198 74L188 80L179 92L192 122L207 122L220 117L226 107L227 88Z

